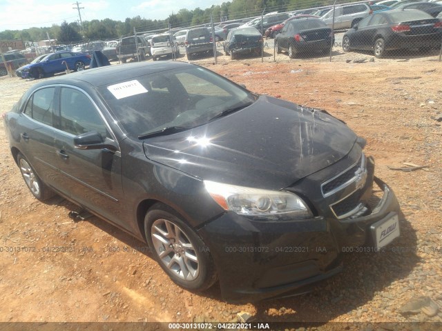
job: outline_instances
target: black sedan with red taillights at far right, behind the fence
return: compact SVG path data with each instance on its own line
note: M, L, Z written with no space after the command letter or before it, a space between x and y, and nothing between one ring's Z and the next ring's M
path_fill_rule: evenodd
M373 50L383 57L389 50L440 48L442 22L421 10L389 10L365 17L345 32L343 50Z

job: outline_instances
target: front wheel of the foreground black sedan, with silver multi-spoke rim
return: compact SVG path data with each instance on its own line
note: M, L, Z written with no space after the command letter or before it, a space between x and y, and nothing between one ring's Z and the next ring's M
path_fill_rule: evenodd
M174 283L204 291L217 281L209 249L167 205L156 203L148 210L144 230L153 256Z

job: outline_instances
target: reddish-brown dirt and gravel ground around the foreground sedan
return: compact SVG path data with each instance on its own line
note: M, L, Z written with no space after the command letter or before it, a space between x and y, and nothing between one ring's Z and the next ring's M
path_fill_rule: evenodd
M401 204L401 238L378 254L345 253L343 272L299 297L234 305L222 301L216 285L204 294L187 292L140 241L97 217L73 221L68 212L79 208L63 199L34 199L1 121L0 301L8 304L0 305L0 321L225 322L248 312L258 321L289 322L287 328L295 321L324 328L329 322L442 322L442 66L436 57L328 63L286 56L276 63L204 65L253 92L325 109L365 137L377 176ZM34 83L1 77L0 113ZM427 168L390 169L403 163ZM432 298L439 312L401 310L419 296Z

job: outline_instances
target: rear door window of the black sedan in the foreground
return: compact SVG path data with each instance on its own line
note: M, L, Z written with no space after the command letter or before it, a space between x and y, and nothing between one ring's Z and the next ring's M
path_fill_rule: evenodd
M52 114L54 112L55 88L42 88L29 99L24 113L48 126L52 126Z

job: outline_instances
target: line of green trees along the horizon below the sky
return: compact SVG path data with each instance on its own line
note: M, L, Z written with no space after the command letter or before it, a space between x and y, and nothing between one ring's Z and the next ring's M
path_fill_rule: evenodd
M345 1L349 2L349 1ZM328 6L330 0L233 0L224 2L220 6L211 6L202 10L181 9L177 13L171 13L167 19L144 19L141 16L126 18L124 22L114 19L93 19L79 23L67 23L52 25L47 28L28 28L24 30L5 30L0 32L0 40L21 39L22 41L39 41L57 39L59 43L73 43L84 41L85 39L117 39L133 34L134 28L137 32L148 32L154 30L171 28L185 28L209 23L211 17L214 22L225 19L243 19L255 17L265 10L268 12L282 12L290 10L301 10Z

